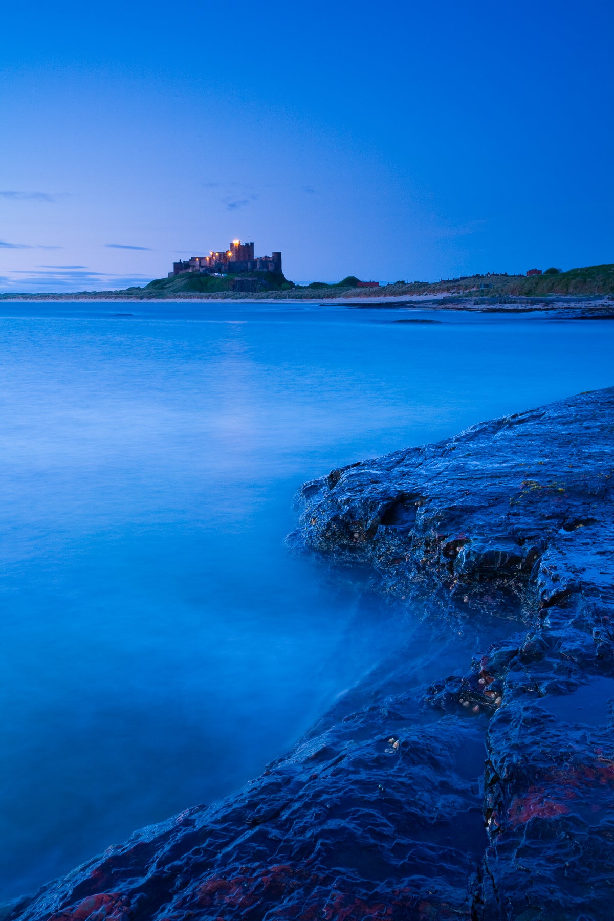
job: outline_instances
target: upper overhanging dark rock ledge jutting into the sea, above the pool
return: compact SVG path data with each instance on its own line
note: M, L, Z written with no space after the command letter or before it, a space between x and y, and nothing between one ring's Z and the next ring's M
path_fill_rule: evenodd
M360 461L301 488L290 541L366 562L381 589L435 593L444 607L528 611L580 589L586 598L597 583L585 564L608 557L612 533L613 435L608 389Z

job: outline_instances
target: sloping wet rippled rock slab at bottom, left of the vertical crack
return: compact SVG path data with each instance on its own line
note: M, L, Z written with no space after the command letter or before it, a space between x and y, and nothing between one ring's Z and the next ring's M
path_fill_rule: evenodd
M483 734L412 724L408 702L323 725L235 796L135 834L6 916L469 919Z

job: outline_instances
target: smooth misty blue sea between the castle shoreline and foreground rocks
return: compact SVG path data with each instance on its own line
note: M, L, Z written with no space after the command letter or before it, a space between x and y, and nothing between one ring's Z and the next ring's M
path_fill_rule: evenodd
M608 321L4 303L0 337L0 898L237 787L402 641L285 552L298 484L614 383Z

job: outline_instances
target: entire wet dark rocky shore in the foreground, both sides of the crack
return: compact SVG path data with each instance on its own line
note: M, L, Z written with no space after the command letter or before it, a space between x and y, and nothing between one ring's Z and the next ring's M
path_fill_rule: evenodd
M0 916L609 918L613 466L610 389L303 486L292 547L366 566L411 647L243 790Z

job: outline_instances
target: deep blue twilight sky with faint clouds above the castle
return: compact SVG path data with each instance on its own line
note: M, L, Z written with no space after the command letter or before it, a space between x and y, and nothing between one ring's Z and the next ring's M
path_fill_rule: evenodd
M5 8L1 289L143 285L237 237L295 281L614 262L613 24L605 0Z

